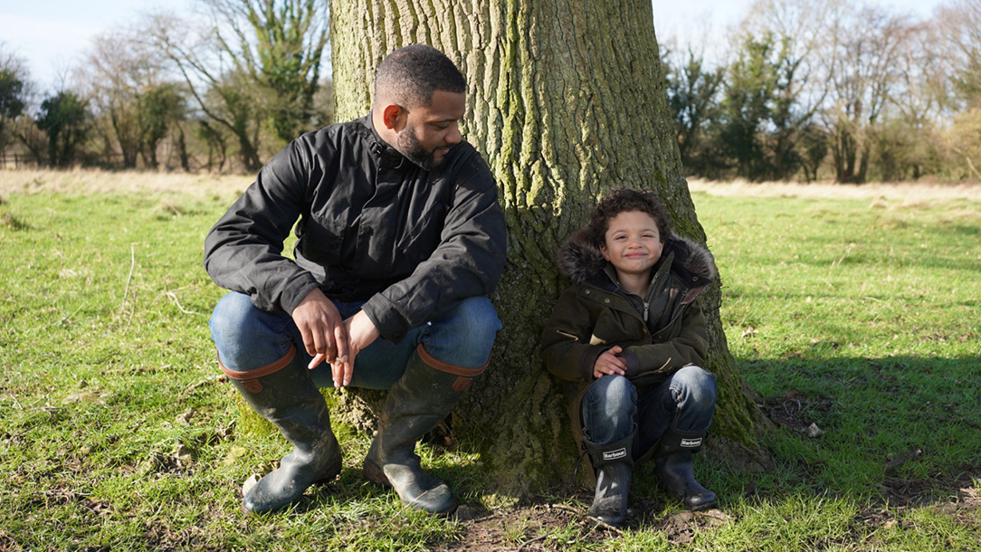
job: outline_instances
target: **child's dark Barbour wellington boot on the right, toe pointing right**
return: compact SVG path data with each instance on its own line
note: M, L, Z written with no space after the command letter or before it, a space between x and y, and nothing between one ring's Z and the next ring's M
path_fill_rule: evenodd
M654 475L672 496L692 511L714 508L719 503L715 493L701 486L695 478L692 455L701 449L701 441L706 433L707 431L678 431L668 427L654 452Z

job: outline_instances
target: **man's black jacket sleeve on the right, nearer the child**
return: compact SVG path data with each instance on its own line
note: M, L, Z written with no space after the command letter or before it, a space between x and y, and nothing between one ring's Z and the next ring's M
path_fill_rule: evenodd
M362 307L383 337L398 340L467 297L489 295L505 259L497 185L476 152L453 185L439 246L413 273Z

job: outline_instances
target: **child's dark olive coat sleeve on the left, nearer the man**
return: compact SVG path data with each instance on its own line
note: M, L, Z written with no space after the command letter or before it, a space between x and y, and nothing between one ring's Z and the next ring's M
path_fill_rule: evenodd
M609 345L591 345L595 320L579 300L582 288L569 287L559 296L551 317L542 330L542 361L557 377L569 381L592 381L596 358Z

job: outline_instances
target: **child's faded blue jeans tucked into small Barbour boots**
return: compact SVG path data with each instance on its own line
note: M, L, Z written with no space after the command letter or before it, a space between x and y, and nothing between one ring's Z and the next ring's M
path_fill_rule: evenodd
M602 376L586 390L580 405L583 434L596 444L630 434L637 424L634 458L657 443L668 427L679 431L708 429L715 413L715 376L687 366L638 398L637 387L624 376Z

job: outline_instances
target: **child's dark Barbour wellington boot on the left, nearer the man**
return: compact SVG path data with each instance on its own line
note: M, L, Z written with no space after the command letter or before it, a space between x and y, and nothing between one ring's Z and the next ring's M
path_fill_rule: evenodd
M630 480L634 475L634 436L630 435L612 443L595 444L583 439L583 447L590 454L596 475L596 493L589 516L611 527L620 527L627 521L627 496Z

